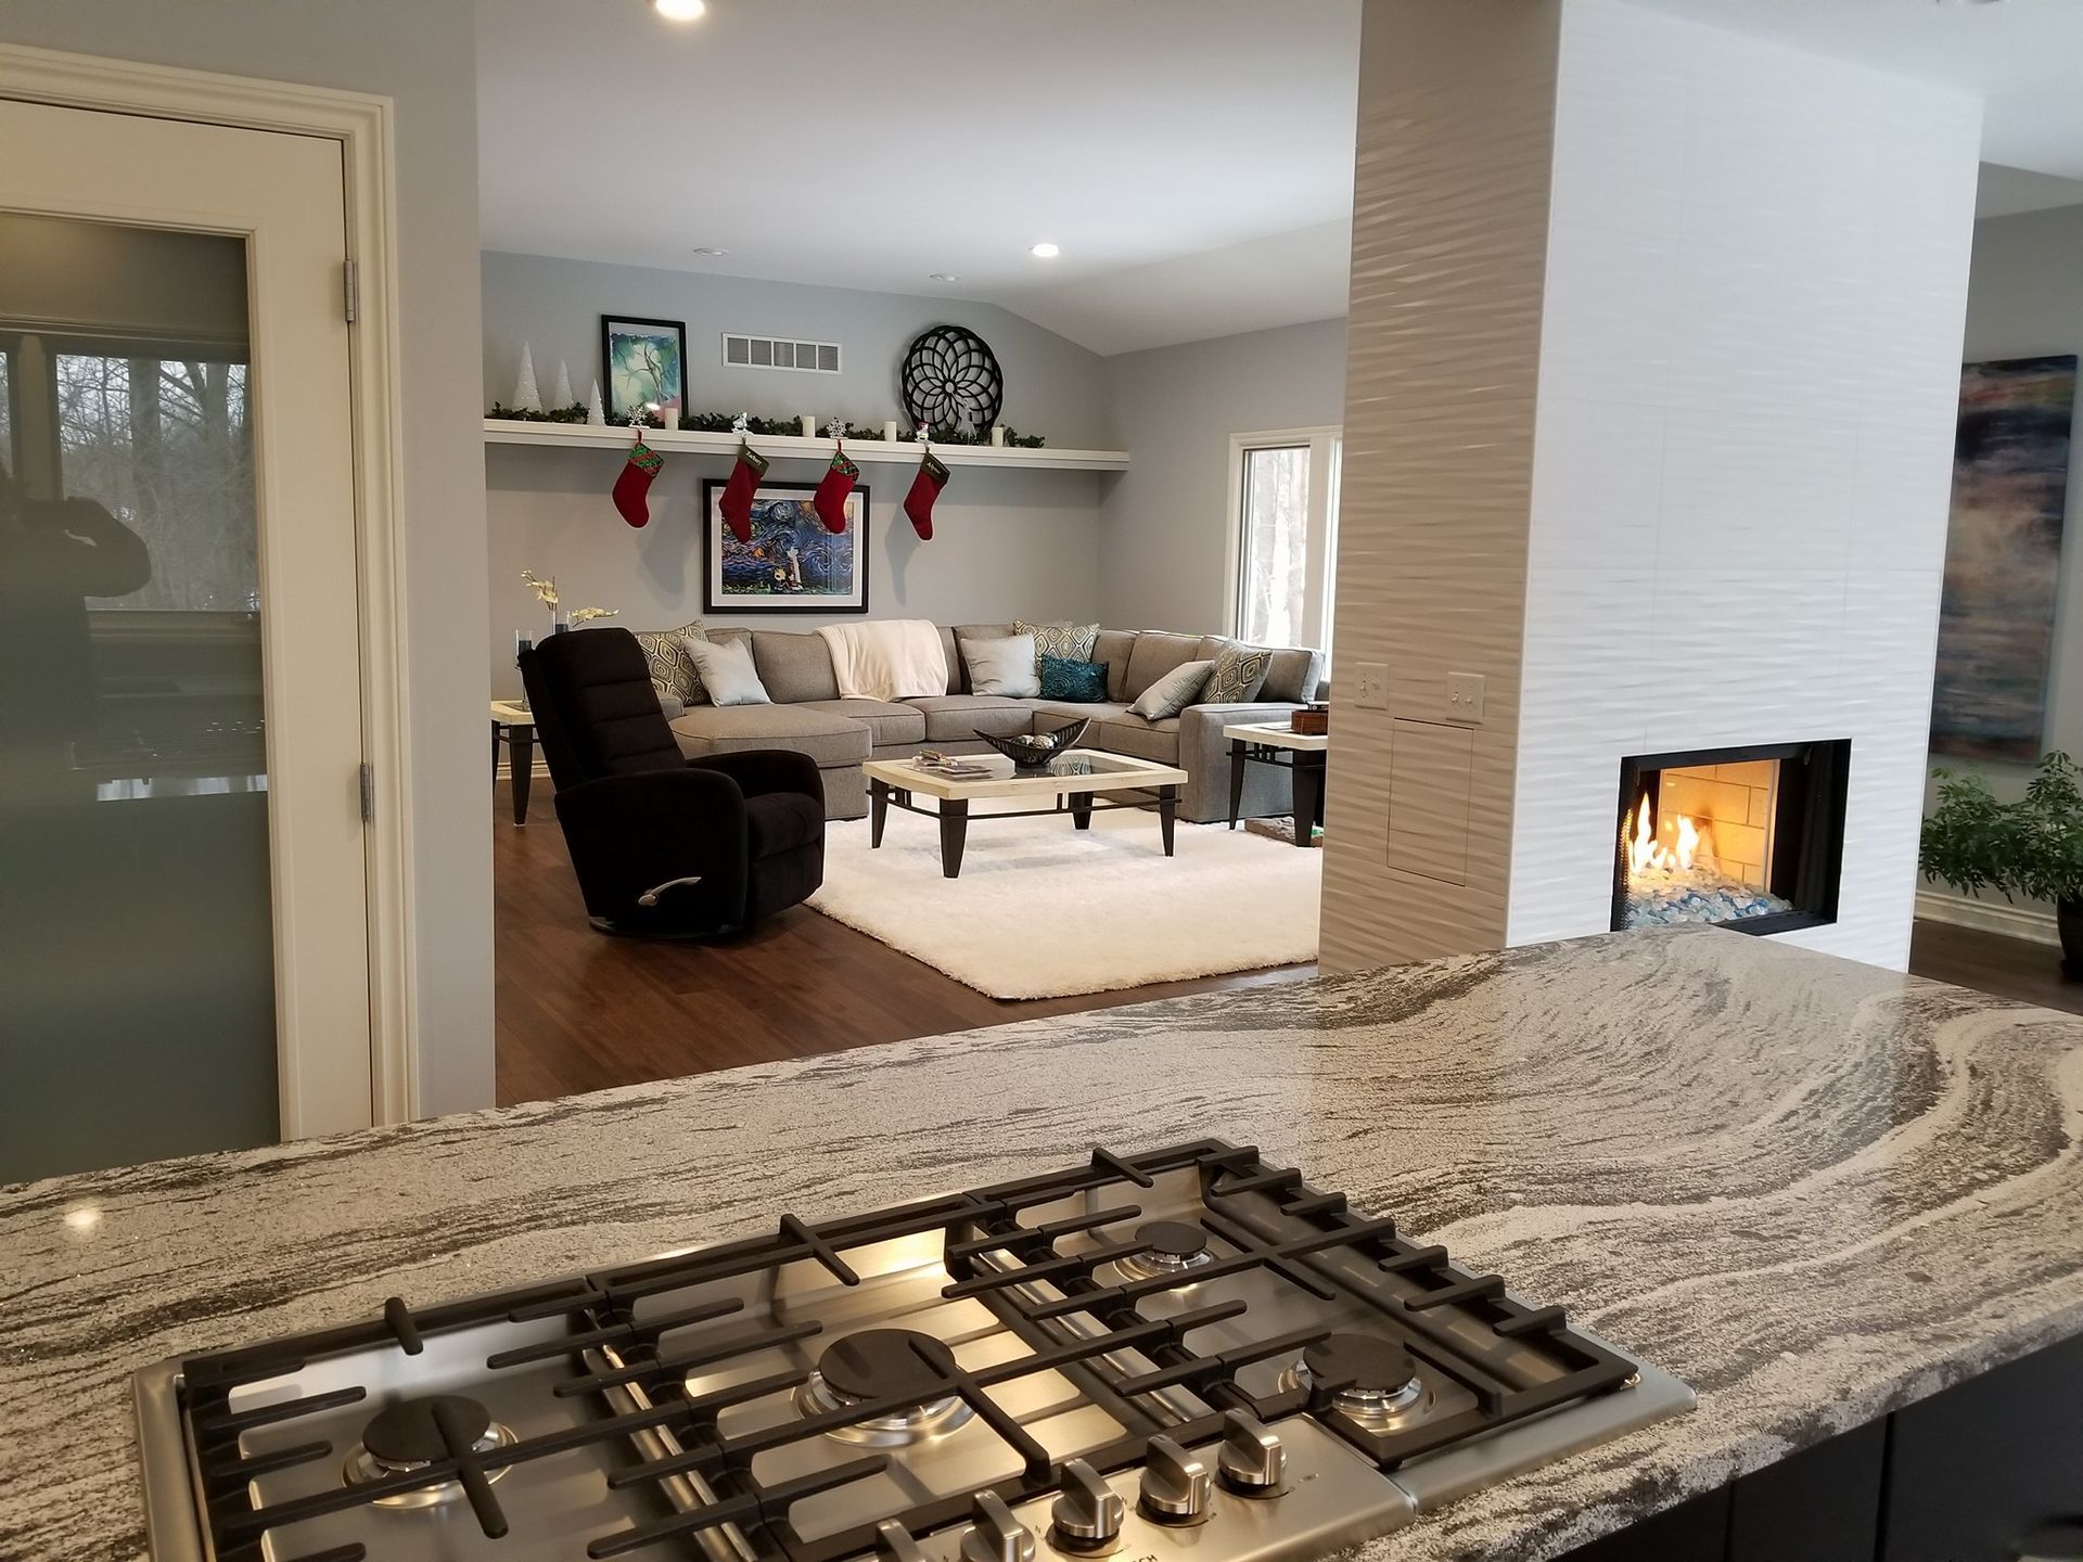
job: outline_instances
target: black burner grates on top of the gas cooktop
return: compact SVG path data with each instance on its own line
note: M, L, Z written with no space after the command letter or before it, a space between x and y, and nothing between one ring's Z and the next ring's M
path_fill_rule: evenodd
M1173 1227L1173 1241L1191 1237L1198 1225L1208 1239L1206 1260L1196 1256L1194 1266L1104 1279L1110 1266L1148 1245L1135 1239L1131 1225L1141 1218L1144 1206L1121 1202L1119 1191L1154 1189L1158 1177L1198 1181L1198 1223L1183 1223L1183 1233L1177 1220L1164 1225ZM1075 1200L1102 1208L1071 1214L1052 1208ZM1023 1225L1027 1212L1048 1218ZM721 1281L764 1277L760 1283L771 1283L771 1277L794 1264L817 1266L839 1287L860 1287L862 1277L848 1262L848 1252L935 1235L948 1277L939 1295L985 1306L1023 1354L987 1366L962 1366L948 1343L919 1337L910 1350L923 1370L906 1379L902 1393L725 1433L725 1412L794 1391L810 1372L760 1375L704 1393L685 1387L687 1375L796 1345L821 1335L825 1325L789 1322L704 1339L694 1347L669 1347L671 1333L729 1318L744 1310L744 1302L708 1298L639 1312L639 1304L652 1298L669 1300L675 1291ZM1352 1383L1337 1381L1335 1375L1314 1377L1306 1385L1248 1387L1241 1377L1252 1368L1294 1360L1323 1343L1333 1329L1283 1329L1266 1339L1202 1350L1189 1335L1216 1331L1250 1310L1248 1302L1235 1298L1194 1300L1219 1295L1219 1283L1225 1281L1277 1283L1316 1302L1362 1306L1429 1372L1466 1389L1473 1404L1414 1427L1383 1427L1364 1425L1337 1408L1337 1395L1352 1389ZM1144 1308L1154 1304L1169 1312L1146 1314ZM1496 1343L1471 1343L1471 1318ZM383 1347L419 1356L429 1339L454 1331L556 1320L564 1322L564 1333L494 1352L485 1356L485 1368L498 1375L569 1360L587 1370L554 1379L552 1395L589 1402L633 1391L637 1408L494 1447L475 1447L465 1437L467 1427L435 1412L444 1452L423 1466L335 1491L273 1502L252 1495L250 1483L256 1477L331 1458L333 1445L306 1441L246 1454L244 1433L358 1404L369 1391L346 1387L233 1410L237 1389L296 1372L329 1354ZM1525 1366L1529 1352L1539 1370ZM183 1362L183 1391L206 1522L221 1562L258 1562L262 1539L275 1531L435 1483L458 1485L483 1535L498 1537L506 1533L508 1518L492 1489L494 1475L589 1445L623 1450L631 1437L646 1433L669 1435L667 1447L673 1452L623 1464L606 1477L606 1485L614 1491L662 1491L662 1483L692 1477L700 1483L694 1489L702 1500L675 1497L669 1502L673 1512L662 1518L633 1520L598 1535L585 1547L589 1558L623 1556L669 1539L737 1527L742 1533L756 1533L787 1562L837 1562L873 1552L881 1522L896 1520L919 1535L962 1520L973 1493L929 1497L904 1512L885 1514L879 1525L806 1537L794 1525L794 1504L881 1477L889 1472L892 1456L873 1454L771 1483L756 1475L754 1460L835 1429L902 1414L921 1395L935 1402L960 1400L973 1420L1010 1450L1019 1460L1019 1475L994 1489L1004 1502L1019 1504L1054 1491L1064 1472L1050 1450L1006 1410L998 1391L1044 1372L1062 1372L1119 1420L1121 1437L1079 1454L1094 1468L1116 1472L1141 1462L1152 1437L1194 1445L1221 1435L1225 1412L1275 1420L1304 1410L1379 1468L1396 1468L1471 1433L1621 1387L1631 1370L1625 1358L1573 1333L1560 1308L1529 1308L1506 1293L1502 1279L1454 1268L1444 1248L1404 1239L1394 1220L1350 1212L1341 1193L1310 1189L1298 1170L1266 1166L1256 1148L1208 1139L1139 1156L1096 1148L1085 1166L879 1214L817 1225L785 1214L762 1237L606 1268L550 1287L425 1310L412 1310L394 1298L383 1316L369 1325L192 1358ZM1160 1406L1158 1395L1177 1397L1181 1391L1198 1402L1198 1410L1181 1414L1175 1400ZM621 1404L629 1402L625 1397ZM298 1562L358 1562L362 1556L360 1545L342 1545Z

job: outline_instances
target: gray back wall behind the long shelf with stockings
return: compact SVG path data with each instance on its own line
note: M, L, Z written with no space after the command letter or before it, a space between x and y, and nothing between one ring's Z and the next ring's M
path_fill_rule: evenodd
M1006 421L1052 446L1112 448L1104 362L987 304L837 287L608 267L525 254L483 256L483 394L508 400L521 344L535 354L544 396L556 364L583 398L600 369L600 314L687 323L687 402L756 417L896 417L904 348L929 325L969 325L1006 375ZM771 331L846 348L844 375L723 369L721 333ZM515 631L542 633L544 610L521 571L554 575L567 606L617 608L617 623L658 629L706 619L808 629L814 614L704 614L702 479L729 477L727 456L664 452L650 489L652 521L623 525L608 489L621 454L550 446L487 446L492 621L485 654L494 694L519 689ZM812 460L775 460L771 481L814 483ZM869 487L869 614L996 623L1012 616L1091 619L1098 610L1100 487L1094 473L956 467L923 544L898 508L912 467L862 462Z

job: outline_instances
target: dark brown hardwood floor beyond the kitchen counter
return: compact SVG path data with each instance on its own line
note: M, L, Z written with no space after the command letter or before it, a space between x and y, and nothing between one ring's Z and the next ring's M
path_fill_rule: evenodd
M612 939L585 923L548 785L537 781L525 827L510 818L502 783L492 827L502 1106L1314 975L1285 966L1008 1004L808 910L714 943ZM2039 943L1918 923L1910 968L2083 1012L2083 983L2064 983Z

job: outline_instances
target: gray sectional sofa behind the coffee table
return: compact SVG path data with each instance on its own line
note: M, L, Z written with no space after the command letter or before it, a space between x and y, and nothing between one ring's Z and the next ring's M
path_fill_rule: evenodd
M808 754L825 781L825 816L860 818L869 812L860 766L871 758L904 758L927 748L979 754L989 744L979 731L1010 735L1050 731L1077 716L1091 716L1083 748L1135 754L1179 764L1191 781L1181 798L1181 818L1212 823L1229 816L1229 744L1223 727L1237 721L1283 721L1298 704L1319 696L1323 652L1275 650L1258 702L1248 706L1189 706L1169 721L1144 721L1129 704L1175 666L1212 658L1231 644L1219 635L1175 635L1156 629L1102 629L1091 660L1106 664L1106 700L1010 700L973 694L962 660L964 639L1012 633L1012 625L942 627L948 652L948 691L883 704L842 700L823 635L785 629L706 629L710 639L750 639L752 662L773 704L683 704L660 689L664 714L689 758L733 754L748 748L787 748ZM1244 814L1285 814L1287 777L1264 764L1246 766Z

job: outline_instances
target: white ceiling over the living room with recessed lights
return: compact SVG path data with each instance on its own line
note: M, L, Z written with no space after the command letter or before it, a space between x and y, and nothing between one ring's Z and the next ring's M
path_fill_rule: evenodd
M485 248L946 292L1096 352L1346 312L1358 0L477 17Z

